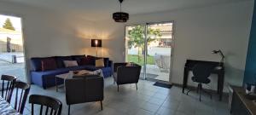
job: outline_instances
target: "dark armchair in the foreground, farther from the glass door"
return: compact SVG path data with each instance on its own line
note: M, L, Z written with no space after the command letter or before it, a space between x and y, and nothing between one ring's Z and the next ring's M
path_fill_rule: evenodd
M103 101L103 78L98 75L85 75L84 77L71 78L65 80L66 101L68 105L68 115L70 105L92 101Z

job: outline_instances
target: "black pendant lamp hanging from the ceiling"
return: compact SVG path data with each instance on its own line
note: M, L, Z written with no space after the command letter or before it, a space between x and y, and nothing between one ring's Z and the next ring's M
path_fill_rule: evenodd
M113 13L113 20L115 22L126 22L129 20L129 14L122 12L122 3L124 0L119 0L120 12Z

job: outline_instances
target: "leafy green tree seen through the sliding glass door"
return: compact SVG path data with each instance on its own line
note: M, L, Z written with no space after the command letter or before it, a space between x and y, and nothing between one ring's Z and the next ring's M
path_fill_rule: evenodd
M128 31L128 37L130 38L128 41L128 48L132 47L137 48L137 60L140 62L142 54L144 54L144 26L135 26L131 30ZM147 43L151 43L156 40L156 37L161 37L160 29L152 29L148 27L148 37Z

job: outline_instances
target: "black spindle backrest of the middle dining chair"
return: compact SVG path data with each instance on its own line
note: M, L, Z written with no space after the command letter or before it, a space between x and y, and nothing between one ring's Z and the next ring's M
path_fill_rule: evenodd
M30 85L21 81L15 83L15 110L21 114L24 111L27 95L29 94Z

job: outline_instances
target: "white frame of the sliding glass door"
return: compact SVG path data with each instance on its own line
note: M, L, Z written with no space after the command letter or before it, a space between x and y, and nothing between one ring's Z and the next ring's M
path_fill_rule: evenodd
M154 25L154 24L166 24L166 23L172 23L172 43L171 45L174 46L174 41L175 41L175 37L174 37L174 21L171 20L171 21L160 21L160 22L148 22L148 23L142 23L142 24L134 24L134 25L125 25L125 31L126 31L126 27L127 26L144 26L144 55L143 55L143 79L146 80L147 79L147 55L148 55L148 41L147 41L147 37L148 37L148 25ZM125 37L126 37L126 32L125 32ZM126 41L124 42L124 52L126 52ZM166 82L169 82L169 83L172 83L172 62L173 62L173 47L171 47L171 59L170 59L170 70L169 70L169 81L166 81ZM124 53L124 55L126 55ZM124 56L124 60L126 56ZM155 79L156 81L160 81L158 79Z

